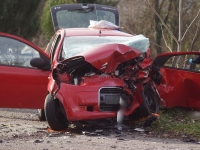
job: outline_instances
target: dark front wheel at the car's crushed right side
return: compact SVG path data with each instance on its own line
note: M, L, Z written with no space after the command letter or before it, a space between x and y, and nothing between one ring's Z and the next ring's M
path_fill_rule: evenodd
M143 87L142 97L144 102L129 116L130 120L145 118L159 111L157 95L150 86Z

